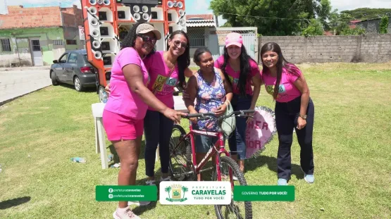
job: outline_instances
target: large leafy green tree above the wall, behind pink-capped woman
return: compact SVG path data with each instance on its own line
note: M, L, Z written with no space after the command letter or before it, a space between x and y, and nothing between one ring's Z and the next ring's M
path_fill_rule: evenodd
M316 15L325 25L331 10L330 0L211 0L210 8L232 27L258 27L266 36L299 35Z

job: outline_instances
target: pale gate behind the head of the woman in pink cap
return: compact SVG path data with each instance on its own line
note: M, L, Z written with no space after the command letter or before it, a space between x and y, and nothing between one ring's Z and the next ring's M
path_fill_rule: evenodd
M225 37L230 32L237 32L243 37L243 44L247 54L258 61L258 37L256 27L216 27L216 30L209 32L209 49L213 54L213 59L223 55Z

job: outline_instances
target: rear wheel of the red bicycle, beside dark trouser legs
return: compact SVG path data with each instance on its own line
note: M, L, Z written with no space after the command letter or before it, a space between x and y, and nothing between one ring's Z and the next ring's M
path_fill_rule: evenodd
M174 125L170 138L170 175L174 180L182 181L192 170L192 148L190 139L181 139L185 137L186 132L180 125Z

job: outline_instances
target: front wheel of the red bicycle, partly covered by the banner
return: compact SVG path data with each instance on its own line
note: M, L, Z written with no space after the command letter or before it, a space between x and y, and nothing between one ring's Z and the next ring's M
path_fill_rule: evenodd
M237 180L233 181L234 185L247 185L239 165L230 157L221 157L221 180L229 181L229 170L232 170L232 177L235 175ZM225 175L225 177L223 177ZM217 171L213 174L213 180L217 180ZM233 189L231 204L214 206L218 219L252 219L252 203L250 201L233 201Z

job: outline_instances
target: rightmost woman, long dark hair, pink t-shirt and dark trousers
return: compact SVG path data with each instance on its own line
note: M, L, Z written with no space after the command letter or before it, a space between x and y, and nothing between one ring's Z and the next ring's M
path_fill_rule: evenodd
M285 60L280 46L274 42L264 44L261 49L262 79L266 92L275 100L275 125L278 132L278 181L286 185L291 175L293 129L299 142L300 165L304 180L313 183L314 153L312 132L314 129L314 104L309 97L309 88L303 73Z

